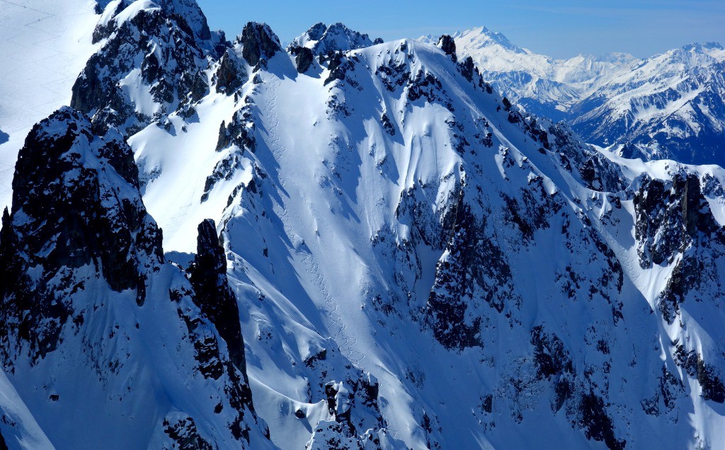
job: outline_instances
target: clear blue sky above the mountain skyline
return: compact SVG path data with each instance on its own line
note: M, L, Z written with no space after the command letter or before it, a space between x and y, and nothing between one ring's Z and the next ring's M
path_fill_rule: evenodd
M290 41L315 22L344 22L386 41L485 25L552 57L626 51L647 57L692 42L725 45L725 0L197 0L231 38L249 20Z

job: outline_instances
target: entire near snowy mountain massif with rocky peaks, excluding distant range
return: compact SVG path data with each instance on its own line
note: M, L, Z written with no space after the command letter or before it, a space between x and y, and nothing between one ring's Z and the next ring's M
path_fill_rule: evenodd
M450 36L320 54L193 6L107 4L20 151L9 448L725 443L721 167L589 146Z

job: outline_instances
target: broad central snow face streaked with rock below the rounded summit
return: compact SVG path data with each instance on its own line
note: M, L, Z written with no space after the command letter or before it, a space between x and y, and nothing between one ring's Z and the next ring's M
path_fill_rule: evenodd
M284 55L279 66L270 61L272 75L262 78L252 102L262 114L257 126L265 130L257 135L264 144L257 141L255 156L262 167L279 169L256 178L259 194L247 192L260 196L262 205L271 196L268 207L255 201L227 213L226 241L239 267L233 278L240 272L239 279L254 286L244 289L251 304L261 298L285 305L286 297L294 307L274 315L286 319L302 312L317 330L315 322L323 322L321 334L332 336L344 357L380 380L383 417L392 436L408 446L544 441L575 448L591 438L618 448L625 442L687 441L690 425L684 422L681 431L664 425L665 418L648 430L629 426L647 421L640 402L668 379L660 351L647 345L633 354L629 348L658 335L648 301L657 304L663 285L643 294L629 281L639 272L632 269L625 278L606 241L587 225L589 214L580 215L582 201L593 196L597 204L606 197L579 185L586 182L576 172L570 175L564 162L594 161L597 175L587 178L597 191L624 191L624 176L579 144L568 149L573 138L566 133L552 142L558 151L544 149L542 155L535 138L511 123L515 114L496 112L501 105L494 96L466 87L461 75L452 75L450 60L431 50L395 42L356 52L341 63L349 64L344 80L329 90L326 72L319 79L293 78ZM290 107L282 103L286 99L304 107ZM476 135L481 141L473 141ZM266 161L265 146L273 157ZM279 193L270 186L276 180ZM238 198L249 201L233 201ZM591 220L615 209L594 204ZM267 225L264 213L270 217L270 210L277 218ZM488 224L481 223L484 217ZM250 241L254 235L259 237ZM552 254L558 264L544 270ZM720 277L718 272L714 279ZM305 293L290 278L298 278ZM307 297L315 305L311 310ZM315 309L324 312L320 319ZM254 354L283 349L299 364L314 353L309 341L300 343L299 331L289 336L294 324L284 320L280 326L267 311L250 312ZM705 325L707 333L717 333L717 322ZM669 333L666 348L674 351L669 342L677 332ZM265 345L257 346L260 341ZM279 362L262 359L260 365L252 364L250 372L275 391L300 402L320 398L314 388L305 399L304 385L275 382L271 374ZM664 367L677 370L674 364ZM309 376L302 379L309 383ZM686 392L673 395L712 411L699 388L689 398ZM714 443L721 437L712 424L693 426ZM572 431L572 425L584 431ZM279 426L278 436L284 429Z

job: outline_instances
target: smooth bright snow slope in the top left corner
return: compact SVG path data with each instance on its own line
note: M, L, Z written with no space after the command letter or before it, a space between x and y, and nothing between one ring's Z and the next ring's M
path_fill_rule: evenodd
M97 49L93 0L0 2L0 205L10 204L17 151L30 128L70 101Z

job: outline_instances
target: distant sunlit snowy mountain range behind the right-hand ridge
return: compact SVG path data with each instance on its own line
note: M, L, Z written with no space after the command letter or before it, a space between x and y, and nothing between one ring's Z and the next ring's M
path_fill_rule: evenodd
M629 54L561 60L501 33L453 35L494 88L535 114L566 120L585 141L629 157L725 164L725 51L693 44L647 59ZM431 41L424 36L421 41Z

